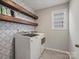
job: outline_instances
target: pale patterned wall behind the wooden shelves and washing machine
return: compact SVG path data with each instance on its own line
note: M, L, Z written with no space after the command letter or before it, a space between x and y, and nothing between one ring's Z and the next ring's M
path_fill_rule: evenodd
M15 13L16 17L33 21L32 18L25 16L18 11L15 11ZM18 30L33 31L34 27L30 25L0 21L0 59L14 59L13 35L18 32Z

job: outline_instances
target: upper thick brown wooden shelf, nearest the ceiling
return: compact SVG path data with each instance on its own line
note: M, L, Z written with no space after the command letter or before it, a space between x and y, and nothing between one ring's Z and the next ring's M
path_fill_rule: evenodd
M13 10L19 11L20 13L27 15L33 19L38 19L38 16L36 16L32 12L30 12L29 10L23 8L22 6L16 4L15 2L13 2L11 0L0 0L0 4L7 6Z

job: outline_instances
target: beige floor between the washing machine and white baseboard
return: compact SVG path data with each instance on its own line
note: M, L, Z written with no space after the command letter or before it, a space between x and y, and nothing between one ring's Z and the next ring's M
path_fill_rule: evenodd
M64 53L58 53L55 51L45 50L40 59L69 59L69 56Z

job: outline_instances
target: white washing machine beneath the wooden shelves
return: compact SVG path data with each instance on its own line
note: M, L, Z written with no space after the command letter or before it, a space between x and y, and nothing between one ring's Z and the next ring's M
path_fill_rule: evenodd
M19 32L15 35L15 59L39 59L44 45L44 33Z

